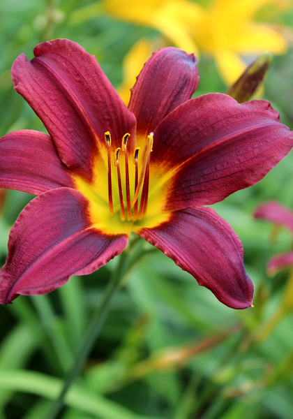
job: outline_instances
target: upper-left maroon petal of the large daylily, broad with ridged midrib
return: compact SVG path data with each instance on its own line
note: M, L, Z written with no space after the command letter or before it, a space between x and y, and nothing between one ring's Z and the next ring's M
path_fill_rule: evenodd
M119 98L95 57L67 39L36 46L31 61L21 54L12 68L15 90L52 136L63 163L88 180L100 142L112 147L125 133L135 144L135 117Z

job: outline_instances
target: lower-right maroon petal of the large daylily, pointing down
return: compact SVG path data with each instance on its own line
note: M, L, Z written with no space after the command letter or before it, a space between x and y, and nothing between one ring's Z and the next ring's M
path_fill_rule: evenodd
M211 208L186 208L157 228L138 233L233 309L250 307L253 283L232 227Z

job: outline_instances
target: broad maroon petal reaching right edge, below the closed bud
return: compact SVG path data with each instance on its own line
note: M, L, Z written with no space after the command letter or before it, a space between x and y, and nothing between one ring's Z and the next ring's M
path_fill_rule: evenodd
M166 210L180 210L217 203L259 182L292 146L290 128L269 102L206 94L165 117L151 159L154 171L172 173Z

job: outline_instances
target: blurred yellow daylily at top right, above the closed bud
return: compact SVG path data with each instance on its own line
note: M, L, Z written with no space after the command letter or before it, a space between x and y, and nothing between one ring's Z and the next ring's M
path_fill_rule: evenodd
M239 55L286 52L283 36L269 24L254 22L255 13L275 0L213 0L193 37L200 50L211 54L227 84L243 73L246 64Z

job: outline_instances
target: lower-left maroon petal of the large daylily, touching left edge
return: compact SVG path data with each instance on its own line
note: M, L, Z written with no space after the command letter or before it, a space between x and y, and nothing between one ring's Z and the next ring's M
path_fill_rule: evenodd
M87 200L74 189L48 191L22 210L0 271L0 303L17 295L50 293L76 272L90 273L123 251L128 237L91 226Z

